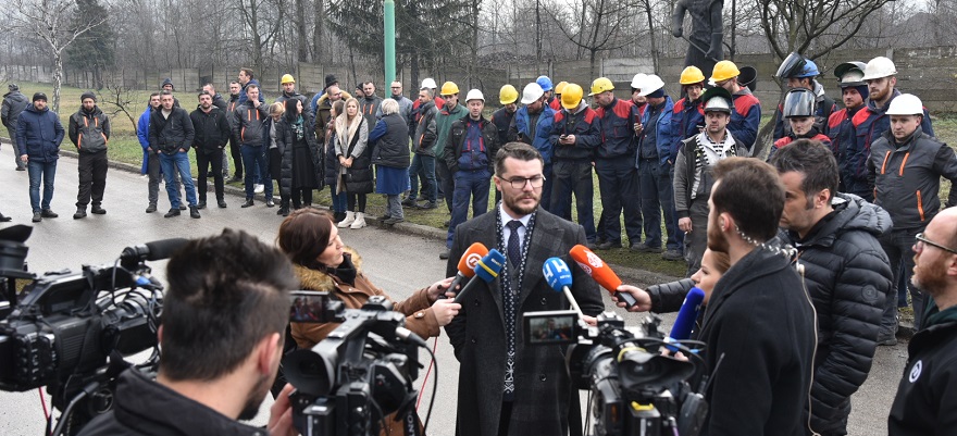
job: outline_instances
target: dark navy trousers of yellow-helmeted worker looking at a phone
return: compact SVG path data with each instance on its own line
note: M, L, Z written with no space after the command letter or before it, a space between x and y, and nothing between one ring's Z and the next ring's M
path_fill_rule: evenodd
M595 241L595 214L593 210L595 186L592 182L592 162L556 161L551 167L555 185L551 188L551 209L548 211L572 221L572 194L579 224L585 227L588 242Z

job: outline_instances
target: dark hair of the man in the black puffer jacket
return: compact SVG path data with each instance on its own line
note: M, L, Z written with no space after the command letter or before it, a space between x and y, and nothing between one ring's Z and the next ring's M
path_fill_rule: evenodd
M819 140L800 138L791 142L774 153L771 164L780 174L791 171L803 173L800 190L805 195L829 189L831 195L828 201L831 201L837 192L837 161L834 160L834 153Z

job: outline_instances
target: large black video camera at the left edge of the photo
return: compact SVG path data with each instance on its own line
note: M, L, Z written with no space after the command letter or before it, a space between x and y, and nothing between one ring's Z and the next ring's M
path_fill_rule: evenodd
M62 411L53 434L75 434L112 407L123 357L156 348L163 287L145 261L169 258L186 239L128 247L112 265L37 276L24 262L32 231L0 231L0 389L47 386ZM17 279L29 281L20 295Z

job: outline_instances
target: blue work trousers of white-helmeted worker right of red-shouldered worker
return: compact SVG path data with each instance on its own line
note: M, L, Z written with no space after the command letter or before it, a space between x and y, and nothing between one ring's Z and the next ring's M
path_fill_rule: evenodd
M674 184L668 164L658 159L642 160L638 175L642 185L642 215L645 217L645 244L661 247L661 212L664 212L666 248L681 251L684 234L678 236L678 213L674 211Z

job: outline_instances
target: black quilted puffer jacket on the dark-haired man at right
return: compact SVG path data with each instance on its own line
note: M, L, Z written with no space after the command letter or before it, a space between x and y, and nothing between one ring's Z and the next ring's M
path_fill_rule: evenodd
M891 289L891 265L878 238L892 223L885 210L855 195L837 194L831 204L834 212L803 240L794 232L781 236L798 251L818 316L810 426L821 434L844 434L850 396L871 369Z

